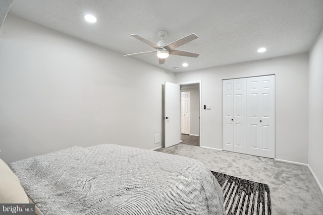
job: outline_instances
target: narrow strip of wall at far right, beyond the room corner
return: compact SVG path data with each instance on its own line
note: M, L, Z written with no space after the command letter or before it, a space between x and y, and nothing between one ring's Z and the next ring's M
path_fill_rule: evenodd
M308 164L323 192L323 30L309 52Z

